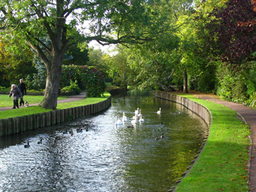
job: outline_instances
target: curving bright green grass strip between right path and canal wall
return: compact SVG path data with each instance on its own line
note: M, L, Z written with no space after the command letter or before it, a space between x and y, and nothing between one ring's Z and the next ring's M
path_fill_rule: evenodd
M181 96L207 107L213 120L204 150L176 192L248 191L248 125L230 108L192 95Z

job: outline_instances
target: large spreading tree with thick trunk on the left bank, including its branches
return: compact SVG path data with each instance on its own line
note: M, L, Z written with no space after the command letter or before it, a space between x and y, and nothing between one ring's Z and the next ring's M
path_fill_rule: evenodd
M26 43L44 61L47 79L40 106L56 109L61 64L68 47L91 40L102 45L148 40L148 31L140 27L150 23L146 8L150 3L154 1L2 0L1 36Z

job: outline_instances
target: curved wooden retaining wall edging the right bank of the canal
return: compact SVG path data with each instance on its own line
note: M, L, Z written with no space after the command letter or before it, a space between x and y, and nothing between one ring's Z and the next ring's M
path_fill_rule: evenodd
M200 156L200 153L202 152L202 150L205 147L205 144L206 144L207 139L210 134L210 128L211 128L211 124L212 124L212 114L211 114L211 111L209 109L207 109L205 106L198 104L195 101L189 100L185 97L180 97L178 95L172 95L171 93L167 93L167 92L155 92L155 91L153 92L153 95L154 95L154 97L171 100L172 102L177 102L179 104L182 104L183 106L185 106L186 108L190 109L191 111L196 113L198 116L200 116L204 120L205 124L207 125L207 129L205 130L205 133L204 133L204 140L203 140L202 145L199 148L198 152L196 153L196 156L194 157L193 161L191 161L191 164L189 164L189 166L186 168L186 171L183 172L181 177L176 180L175 186L173 186L172 188L170 188L168 190L168 192L175 192L177 185L182 181L182 179L184 177L186 177L186 175L188 175L189 171L191 170L193 165L196 163L196 161L198 160L198 158Z

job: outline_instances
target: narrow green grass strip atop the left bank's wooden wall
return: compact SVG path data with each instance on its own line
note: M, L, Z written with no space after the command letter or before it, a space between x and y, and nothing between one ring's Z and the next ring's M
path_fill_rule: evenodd
M110 96L110 93L105 92L104 96L102 95L102 97L86 97L83 100L78 100L73 102L64 102L64 103L58 104L57 109L67 109L67 108L74 108L78 106L86 106L89 104L95 104L97 102L101 102L103 100L108 99L109 96ZM47 111L52 111L52 109L44 109L44 108L40 108L39 106L31 106L29 108L20 108L20 109L10 109L6 111L1 111L0 119L33 115L37 113L45 113Z

